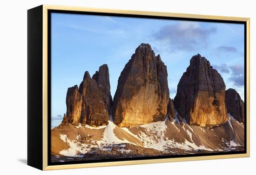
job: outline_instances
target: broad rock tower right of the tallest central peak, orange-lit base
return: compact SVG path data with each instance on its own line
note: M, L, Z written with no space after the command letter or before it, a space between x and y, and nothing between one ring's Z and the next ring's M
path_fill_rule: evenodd
M179 81L174 105L191 125L219 125L228 120L225 88L221 75L198 54Z

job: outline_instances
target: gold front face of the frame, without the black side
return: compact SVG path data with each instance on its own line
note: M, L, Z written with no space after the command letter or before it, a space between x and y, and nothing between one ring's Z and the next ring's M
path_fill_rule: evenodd
M147 160L132 160L132 161L119 161L119 162L97 162L97 163L77 163L69 165L50 165L48 166L48 133L47 133L47 100L48 100L48 46L47 46L47 17L48 10L65 10L65 11L79 11L79 12L105 12L116 14L134 14L134 15L148 15L148 16L164 16L164 17L178 17L178 18L191 18L191 19L215 19L227 21L243 21L246 22L246 153L232 154L232 155L213 155L213 156L195 156L195 157L177 157L177 158L162 158L162 159L147 159ZM227 16L213 16L213 15L198 15L198 14L185 14L185 13L171 13L171 12L150 12L150 11L132 11L132 10L118 10L118 9L105 9L105 8L92 8L92 7L77 7L77 6L53 6L43 5L43 170L54 169L77 169L77 168L92 168L103 166L117 166L117 165L134 165L134 164L147 164L147 163L164 163L164 162L182 162L182 161L198 161L198 160L211 160L211 159L226 159L226 158L242 158L250 156L250 19L241 17L227 17Z

